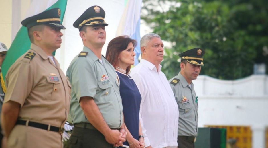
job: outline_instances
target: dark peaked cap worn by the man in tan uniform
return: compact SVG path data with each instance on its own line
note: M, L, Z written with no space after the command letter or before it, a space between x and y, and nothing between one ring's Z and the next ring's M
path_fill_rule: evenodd
M40 25L40 24L45 24L48 26L59 27L61 29L65 29L65 27L60 23L60 9L59 8L49 9L37 15L25 18L21 22L21 24L27 27L27 29L36 25Z

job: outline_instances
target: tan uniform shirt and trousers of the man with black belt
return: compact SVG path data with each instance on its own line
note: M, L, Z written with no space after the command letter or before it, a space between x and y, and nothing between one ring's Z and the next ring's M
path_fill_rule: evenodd
M21 105L19 120L63 127L70 104L70 83L44 50L35 44L15 61L5 77L9 100ZM34 127L16 125L8 139L8 147L62 147L62 134Z

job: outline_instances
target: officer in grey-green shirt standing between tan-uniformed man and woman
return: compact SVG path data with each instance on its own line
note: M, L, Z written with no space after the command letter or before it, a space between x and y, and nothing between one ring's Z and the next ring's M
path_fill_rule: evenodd
M105 11L89 7L73 24L78 28L83 51L72 60L70 80L74 129L70 146L113 147L123 145L126 132L119 81L113 66L101 55L106 40Z

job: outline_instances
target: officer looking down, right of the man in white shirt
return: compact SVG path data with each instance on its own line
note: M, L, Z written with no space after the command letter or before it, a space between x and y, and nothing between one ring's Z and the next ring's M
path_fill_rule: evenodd
M198 98L194 91L195 80L203 66L205 51L193 48L179 54L180 73L169 80L179 108L178 148L194 148L198 135Z

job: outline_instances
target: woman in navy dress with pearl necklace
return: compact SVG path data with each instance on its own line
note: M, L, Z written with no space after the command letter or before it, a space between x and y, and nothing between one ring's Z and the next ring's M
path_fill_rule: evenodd
M129 36L118 36L107 46L106 59L113 65L119 78L120 95L123 104L125 130L127 131L124 146L143 148L144 138L139 121L141 94L133 79L128 75L134 65L134 48L137 41Z

